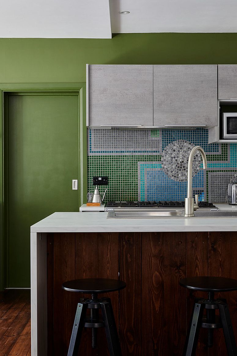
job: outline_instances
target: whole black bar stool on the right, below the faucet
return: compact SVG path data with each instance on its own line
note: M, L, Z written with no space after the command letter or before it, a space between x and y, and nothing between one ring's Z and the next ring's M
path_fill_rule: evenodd
M185 288L208 292L207 299L195 299L183 356L195 356L201 327L208 329L208 347L213 346L213 330L222 328L228 355L237 356L235 336L226 299L214 299L215 292L237 290L237 280L223 277L191 277L180 279L179 284ZM204 309L206 309L205 317L203 317ZM216 309L219 309L220 316L216 315Z

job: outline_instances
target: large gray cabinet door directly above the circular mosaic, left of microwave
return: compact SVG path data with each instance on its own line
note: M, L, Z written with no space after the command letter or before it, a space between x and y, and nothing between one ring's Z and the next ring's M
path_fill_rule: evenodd
M154 126L216 126L216 65L154 65Z

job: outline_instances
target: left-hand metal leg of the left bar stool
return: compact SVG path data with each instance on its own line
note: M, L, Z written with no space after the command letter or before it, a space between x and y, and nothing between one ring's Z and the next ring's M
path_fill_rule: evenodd
M87 303L78 303L71 340L68 349L68 356L77 356L82 330L85 323Z

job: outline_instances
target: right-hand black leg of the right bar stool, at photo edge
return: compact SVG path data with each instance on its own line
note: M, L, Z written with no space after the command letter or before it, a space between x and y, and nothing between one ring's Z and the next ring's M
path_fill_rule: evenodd
M221 323L223 333L226 341L226 348L229 356L237 356L237 348L235 342L235 336L233 333L233 327L230 318L230 312L227 303L221 302L219 305L219 312L221 317Z

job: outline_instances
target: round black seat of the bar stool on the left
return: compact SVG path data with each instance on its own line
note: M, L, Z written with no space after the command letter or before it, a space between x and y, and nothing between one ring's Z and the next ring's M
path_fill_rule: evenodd
M126 287L126 283L117 279L106 278L83 278L67 281L62 284L62 288L69 292L79 293L107 293L115 292Z

